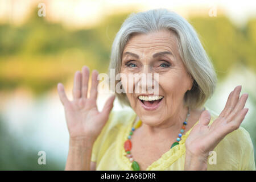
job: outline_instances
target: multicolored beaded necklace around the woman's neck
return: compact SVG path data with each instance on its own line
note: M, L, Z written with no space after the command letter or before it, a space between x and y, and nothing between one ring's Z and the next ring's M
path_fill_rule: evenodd
M188 107L188 113L187 113L187 118L185 119L185 121L183 122L183 126L181 127L180 133L178 135L178 137L176 138L176 142L172 143L172 147L176 146L177 144L179 144L182 134L184 133L185 130L185 126L187 125L187 121L188 121L188 117L190 115L190 108ZM133 135L133 132L135 129L138 129L142 124L141 119L135 123L134 127L131 128L131 131L129 133L129 136L127 137L127 140L125 141L124 147L125 147L125 151L126 151L126 156L127 158L129 158L130 162L131 162L131 167L133 168L134 171L139 171L139 164L133 159L133 156L131 155L131 135Z

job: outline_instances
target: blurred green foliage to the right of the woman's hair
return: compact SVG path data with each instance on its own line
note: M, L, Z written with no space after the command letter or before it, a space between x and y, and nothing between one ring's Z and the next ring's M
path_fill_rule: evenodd
M225 77L231 65L243 64L256 70L256 22L235 27L225 16L194 17L189 21L198 32L218 77Z

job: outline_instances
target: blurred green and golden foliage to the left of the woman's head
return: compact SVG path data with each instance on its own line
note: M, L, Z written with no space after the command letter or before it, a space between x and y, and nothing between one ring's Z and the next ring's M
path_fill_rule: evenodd
M40 94L65 82L82 65L106 72L114 36L126 16L110 16L97 27L71 31L35 11L20 27L0 25L0 88L26 86Z

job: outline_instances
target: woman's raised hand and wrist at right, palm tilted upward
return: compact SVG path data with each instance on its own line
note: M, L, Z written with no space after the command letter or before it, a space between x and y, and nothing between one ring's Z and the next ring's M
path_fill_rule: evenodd
M237 86L228 97L224 110L211 125L210 113L205 110L199 123L193 127L185 142L186 159L184 169L207 169L209 152L229 133L238 129L248 111L245 102L248 94L240 97L241 86Z

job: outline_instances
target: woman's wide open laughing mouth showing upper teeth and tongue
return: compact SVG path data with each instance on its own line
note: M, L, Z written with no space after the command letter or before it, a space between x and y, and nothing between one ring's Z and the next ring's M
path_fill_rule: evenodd
M146 110L156 109L160 102L163 100L163 96L139 96L142 106Z

